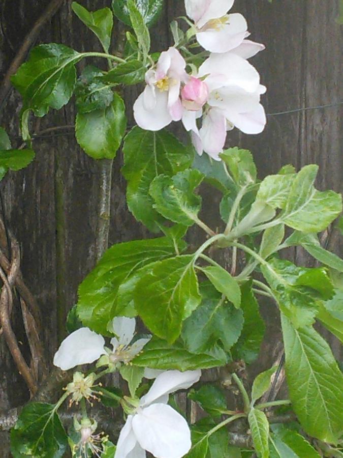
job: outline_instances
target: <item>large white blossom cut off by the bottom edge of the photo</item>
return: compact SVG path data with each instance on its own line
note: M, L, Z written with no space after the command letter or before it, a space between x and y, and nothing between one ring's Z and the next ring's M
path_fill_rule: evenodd
M192 446L189 425L167 402L170 393L191 387L200 376L200 370L166 371L139 404L132 400L114 458L144 458L145 450L156 458L181 458L188 453Z

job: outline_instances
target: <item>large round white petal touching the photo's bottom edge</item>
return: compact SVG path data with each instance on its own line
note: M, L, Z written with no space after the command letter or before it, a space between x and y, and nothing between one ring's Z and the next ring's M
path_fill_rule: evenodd
M165 404L152 404L139 410L132 428L140 446L155 458L181 458L192 446L186 420Z

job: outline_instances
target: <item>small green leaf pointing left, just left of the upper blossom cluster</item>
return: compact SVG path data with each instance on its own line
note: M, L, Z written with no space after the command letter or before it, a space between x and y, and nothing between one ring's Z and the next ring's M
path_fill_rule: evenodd
M116 65L102 77L106 84L138 84L144 81L146 67L140 61L130 61Z

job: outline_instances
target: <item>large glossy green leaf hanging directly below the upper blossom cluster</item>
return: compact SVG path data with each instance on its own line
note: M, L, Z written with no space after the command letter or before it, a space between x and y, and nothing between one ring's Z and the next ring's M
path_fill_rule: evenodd
M188 168L194 152L184 147L166 130L149 132L134 127L124 142L122 174L128 181L127 202L130 211L152 232L159 232L164 219L153 209L149 194L152 180L159 175L173 176Z

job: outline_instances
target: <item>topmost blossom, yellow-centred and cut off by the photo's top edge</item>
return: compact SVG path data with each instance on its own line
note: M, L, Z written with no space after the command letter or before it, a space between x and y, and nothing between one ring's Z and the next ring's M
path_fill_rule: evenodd
M186 14L195 22L198 43L211 52L228 52L239 46L247 24L239 13L227 14L234 0L185 0Z

